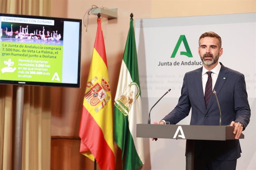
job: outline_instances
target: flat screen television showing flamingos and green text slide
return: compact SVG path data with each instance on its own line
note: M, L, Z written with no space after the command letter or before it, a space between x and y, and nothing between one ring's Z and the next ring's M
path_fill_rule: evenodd
M80 87L82 20L0 14L0 84Z

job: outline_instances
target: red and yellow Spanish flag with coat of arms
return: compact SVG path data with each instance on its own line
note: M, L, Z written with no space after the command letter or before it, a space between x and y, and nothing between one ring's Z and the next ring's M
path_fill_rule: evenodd
M91 67L83 99L79 136L80 152L96 159L101 170L115 169L111 93L101 19L92 52Z

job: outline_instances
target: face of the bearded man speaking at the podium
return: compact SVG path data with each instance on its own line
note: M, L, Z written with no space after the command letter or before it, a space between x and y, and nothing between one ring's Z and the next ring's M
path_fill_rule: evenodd
M198 54L205 65L216 64L222 52L219 40L215 37L204 37L199 41Z

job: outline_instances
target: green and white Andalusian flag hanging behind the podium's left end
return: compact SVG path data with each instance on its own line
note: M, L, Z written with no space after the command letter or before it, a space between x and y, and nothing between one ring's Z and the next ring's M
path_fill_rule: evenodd
M136 124L142 123L141 91L133 19L125 45L114 103L115 142L122 150L125 170L137 170L144 164L142 138L136 137Z

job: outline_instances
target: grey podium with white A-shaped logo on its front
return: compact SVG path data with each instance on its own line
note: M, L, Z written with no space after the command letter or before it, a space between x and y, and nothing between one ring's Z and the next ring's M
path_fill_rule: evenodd
M186 170L193 170L194 140L234 140L233 130L232 126L137 124L136 137L187 139Z

